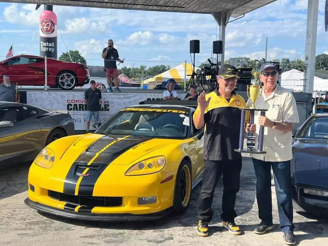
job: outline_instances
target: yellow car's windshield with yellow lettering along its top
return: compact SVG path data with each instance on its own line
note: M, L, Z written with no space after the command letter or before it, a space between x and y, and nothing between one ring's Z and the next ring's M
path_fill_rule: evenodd
M188 135L189 124L188 112L154 108L126 108L105 121L95 133L183 139Z

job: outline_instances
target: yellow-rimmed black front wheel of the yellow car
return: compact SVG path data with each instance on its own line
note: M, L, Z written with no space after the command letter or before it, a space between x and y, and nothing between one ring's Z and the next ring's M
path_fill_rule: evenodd
M190 163L186 160L182 160L176 174L174 185L174 213L183 214L187 210L191 198L191 186Z

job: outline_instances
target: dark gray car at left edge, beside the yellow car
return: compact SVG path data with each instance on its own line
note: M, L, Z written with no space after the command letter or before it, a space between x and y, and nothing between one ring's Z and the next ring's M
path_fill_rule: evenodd
M72 134L68 112L0 101L0 165L33 161L49 143Z

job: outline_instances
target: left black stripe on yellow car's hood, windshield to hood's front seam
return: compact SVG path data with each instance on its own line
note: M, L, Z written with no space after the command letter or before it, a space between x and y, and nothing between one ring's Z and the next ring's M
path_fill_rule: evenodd
M84 152L76 159L77 162L89 162L97 152L105 148L108 144L126 135L106 135L94 141Z

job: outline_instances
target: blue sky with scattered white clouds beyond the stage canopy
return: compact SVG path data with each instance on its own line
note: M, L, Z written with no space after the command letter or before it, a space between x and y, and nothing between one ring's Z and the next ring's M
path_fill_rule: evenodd
M304 60L308 0L278 0L245 14L226 27L225 60L246 56L261 59ZM328 54L328 32L324 29L325 0L319 1L316 54ZM200 40L196 66L211 56L219 26L210 14L54 6L58 18L58 57L79 50L90 66L102 66L101 52L108 39L123 66L147 67L191 63L189 41ZM0 60L13 43L14 55L39 55L39 15L33 4L0 3ZM230 18L230 21L235 18ZM220 55L219 55L220 60ZM122 66L122 65L120 65Z

